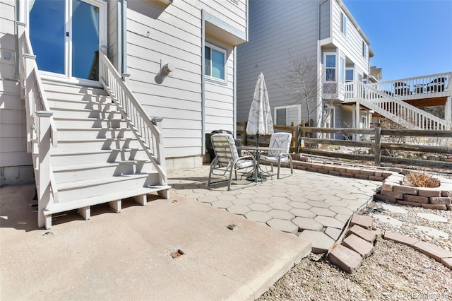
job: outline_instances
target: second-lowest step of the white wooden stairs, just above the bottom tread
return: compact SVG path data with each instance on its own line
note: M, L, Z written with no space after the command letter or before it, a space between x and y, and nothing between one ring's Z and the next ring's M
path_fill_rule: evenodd
M140 189L157 185L158 183L158 172L65 182L57 184L58 199L60 203L64 203L66 201L102 196L103 194L110 194L112 192Z

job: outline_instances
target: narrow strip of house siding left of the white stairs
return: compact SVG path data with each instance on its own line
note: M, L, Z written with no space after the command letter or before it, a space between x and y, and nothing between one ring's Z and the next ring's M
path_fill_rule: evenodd
M0 0L0 184L9 183L5 182L6 177L19 177L21 165L32 164L26 145L25 106L14 76L15 4L16 1Z

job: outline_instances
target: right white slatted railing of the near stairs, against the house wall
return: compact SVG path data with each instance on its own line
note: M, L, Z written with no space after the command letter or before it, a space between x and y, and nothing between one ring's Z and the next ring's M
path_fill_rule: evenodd
M129 86L123 81L117 69L105 54L99 52L100 82L118 105L121 114L131 127L145 153L160 175L160 184L167 185L165 152L162 132L148 117L140 102L136 100ZM155 150L155 153L153 152Z

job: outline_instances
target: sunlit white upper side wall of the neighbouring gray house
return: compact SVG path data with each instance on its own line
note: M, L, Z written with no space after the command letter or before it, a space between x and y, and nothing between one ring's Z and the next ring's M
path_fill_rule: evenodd
M340 32L340 13L341 8L337 1L332 1L332 24L333 24L333 43L345 56L353 61L357 70L362 73L369 73L369 59L362 56L363 37L357 28L347 18L347 35ZM344 13L345 15L345 13ZM369 48L369 47L368 47Z

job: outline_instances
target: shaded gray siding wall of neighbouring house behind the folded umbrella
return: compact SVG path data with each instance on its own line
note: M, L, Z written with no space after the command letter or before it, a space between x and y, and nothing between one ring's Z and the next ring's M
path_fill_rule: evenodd
M248 119L261 72L272 114L274 107L296 104L281 84L293 58L316 61L318 16L319 1L249 1L249 42L237 47L237 121ZM302 104L302 116L304 110Z

